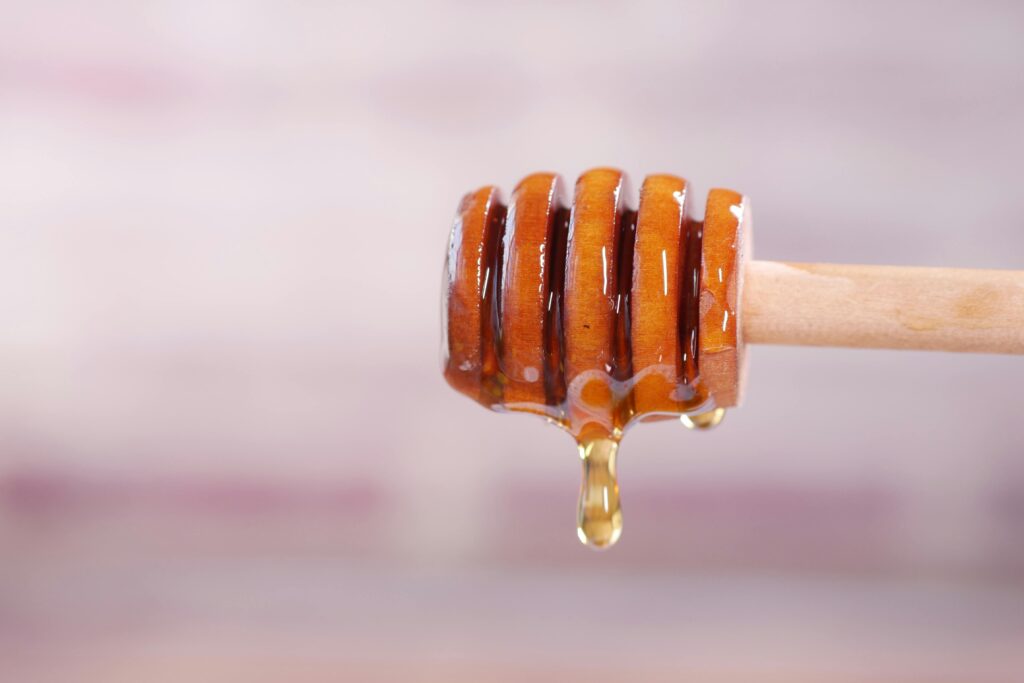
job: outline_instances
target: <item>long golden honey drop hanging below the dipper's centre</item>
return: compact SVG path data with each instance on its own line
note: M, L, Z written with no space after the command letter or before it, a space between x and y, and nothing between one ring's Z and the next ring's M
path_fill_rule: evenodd
M609 548L623 533L623 510L618 503L615 456L618 441L595 438L581 441L583 484L577 513L577 535L591 548Z

